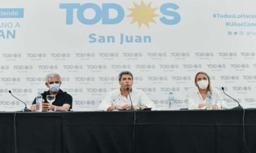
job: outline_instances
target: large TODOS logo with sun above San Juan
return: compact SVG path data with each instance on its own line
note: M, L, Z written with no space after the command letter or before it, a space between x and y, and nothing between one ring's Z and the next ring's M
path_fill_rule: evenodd
M123 6L116 3L61 3L60 8L66 10L66 24L74 24L74 18L77 18L81 24L93 25L101 21L103 25L119 24L125 17L131 18L131 24L138 23L138 27L142 24L149 27L150 22L156 23L156 17L159 22L166 25L175 25L180 22L180 14L176 10L179 6L174 3L164 3L159 8L152 8L152 3L141 4L133 3L133 8L127 8L130 11L125 16ZM159 14L155 13L159 9Z

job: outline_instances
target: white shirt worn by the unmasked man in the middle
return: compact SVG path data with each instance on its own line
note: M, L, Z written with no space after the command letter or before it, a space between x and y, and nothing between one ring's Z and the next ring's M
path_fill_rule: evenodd
M147 106L148 108L154 108L154 103L148 98L145 92L133 89L130 92L132 99L132 105ZM127 98L122 96L120 89L108 92L106 97L101 101L99 110L108 110L109 106L123 106L125 104L131 104L129 96Z

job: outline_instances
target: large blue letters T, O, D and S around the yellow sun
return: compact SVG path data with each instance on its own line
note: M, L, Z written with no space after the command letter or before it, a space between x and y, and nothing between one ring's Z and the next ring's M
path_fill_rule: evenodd
M77 19L82 24L93 25L97 24L102 19L102 24L118 24L122 22L125 17L125 11L122 6L115 3L103 3L102 8L94 3L63 3L60 4L61 9L66 10L66 24L73 24L74 22L74 10L77 9ZM84 14L84 11L90 9L95 12L94 17L88 17ZM170 10L172 9L172 10ZM178 10L179 6L174 3L165 3L161 6L160 11L165 17L161 17L160 21L166 25L175 25L180 22L180 14L175 12ZM116 17L109 14L111 11L116 11Z

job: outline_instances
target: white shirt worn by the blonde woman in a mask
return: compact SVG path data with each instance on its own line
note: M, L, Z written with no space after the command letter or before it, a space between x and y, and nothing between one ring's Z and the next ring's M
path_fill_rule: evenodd
M227 108L227 103L224 101L223 94L218 91L216 88L212 88L212 105L218 105L218 108ZM193 110L193 109L200 109L198 108L198 104L201 103L206 103L206 99L203 99L198 88L193 89L192 91L189 91L187 94L187 99L188 99L188 109ZM205 109L201 108L201 109Z

